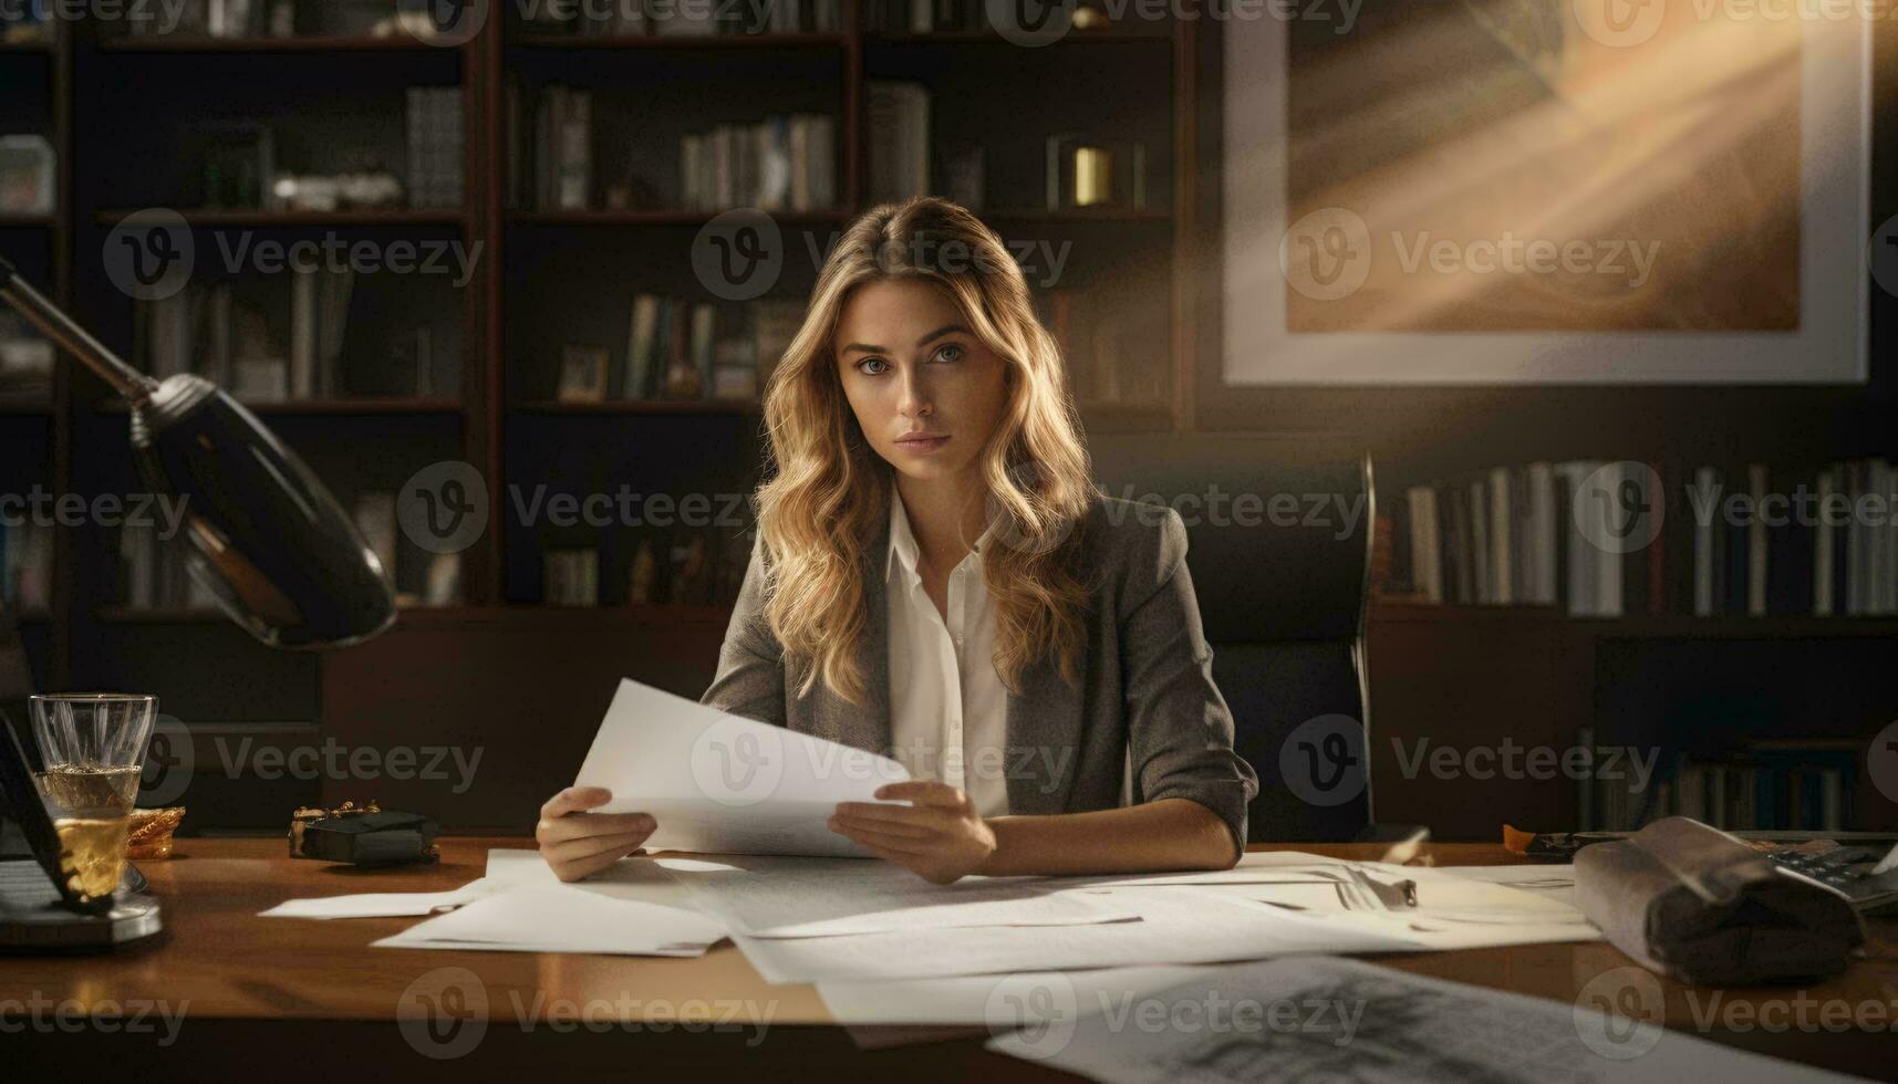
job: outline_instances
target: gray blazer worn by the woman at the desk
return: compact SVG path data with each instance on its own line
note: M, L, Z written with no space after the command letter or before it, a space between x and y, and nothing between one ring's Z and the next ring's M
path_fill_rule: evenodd
M1245 843L1245 809L1258 776L1232 750L1232 712L1213 683L1213 649L1186 573L1186 526L1179 513L1095 495L1078 554L1091 581L1084 617L1088 647L1080 689L1053 657L1023 672L1008 695L1008 811L1084 813L1131 801L1190 797ZM862 750L890 748L890 640L884 587L888 516L865 551L867 630L856 664L867 697L845 701L822 678L795 697L809 663L788 661L763 617L763 545L725 628L717 676L702 702Z

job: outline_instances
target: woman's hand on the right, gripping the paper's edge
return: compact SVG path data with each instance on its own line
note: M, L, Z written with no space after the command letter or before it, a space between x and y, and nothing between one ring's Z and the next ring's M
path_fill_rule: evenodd
M841 801L829 830L932 885L976 873L995 854L995 832L976 814L976 803L945 782L892 782L875 797L913 805Z

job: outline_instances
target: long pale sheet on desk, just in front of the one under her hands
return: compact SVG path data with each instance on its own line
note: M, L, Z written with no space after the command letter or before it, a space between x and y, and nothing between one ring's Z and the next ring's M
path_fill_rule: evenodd
M765 981L883 981L1023 970L1251 961L1281 953L1418 951L1387 928L1268 911L1192 887L1112 888L1139 923L977 926L854 938L733 934Z

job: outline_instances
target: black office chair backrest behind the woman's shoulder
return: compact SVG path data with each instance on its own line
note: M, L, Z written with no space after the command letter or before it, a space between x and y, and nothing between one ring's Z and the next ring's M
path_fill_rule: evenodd
M1095 437L1089 454L1108 495L1186 520L1213 678L1258 773L1253 841L1365 833L1370 459L1222 433Z

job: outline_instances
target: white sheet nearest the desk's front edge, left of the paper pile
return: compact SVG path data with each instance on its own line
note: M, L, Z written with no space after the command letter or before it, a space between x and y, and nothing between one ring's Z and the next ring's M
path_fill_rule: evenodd
M556 885L495 892L376 945L697 957L723 936L695 911Z

